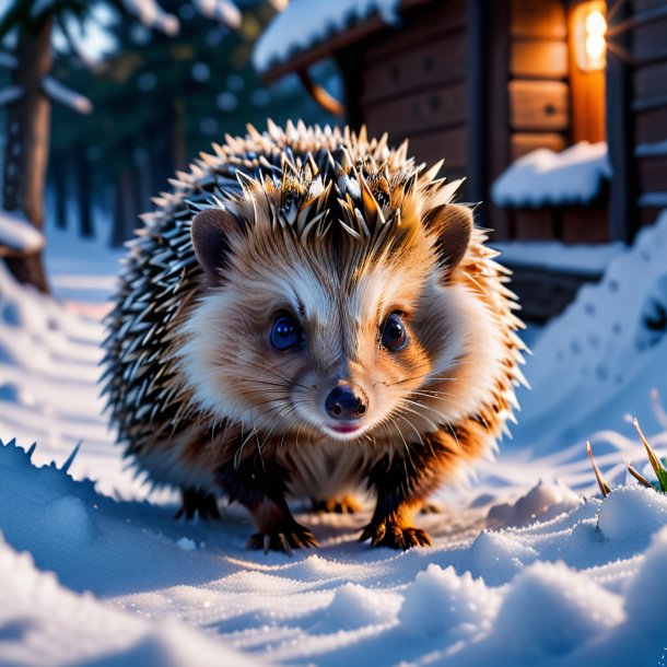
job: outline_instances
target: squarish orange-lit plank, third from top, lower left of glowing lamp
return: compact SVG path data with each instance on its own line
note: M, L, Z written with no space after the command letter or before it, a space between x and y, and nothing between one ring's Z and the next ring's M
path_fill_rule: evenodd
M567 84L515 80L510 89L510 124L515 130L564 130L570 126Z

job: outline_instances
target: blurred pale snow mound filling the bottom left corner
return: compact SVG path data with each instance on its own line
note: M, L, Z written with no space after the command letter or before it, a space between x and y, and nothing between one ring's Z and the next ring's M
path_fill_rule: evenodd
M0 534L0 663L24 667L260 665L175 619L151 621L75 594Z

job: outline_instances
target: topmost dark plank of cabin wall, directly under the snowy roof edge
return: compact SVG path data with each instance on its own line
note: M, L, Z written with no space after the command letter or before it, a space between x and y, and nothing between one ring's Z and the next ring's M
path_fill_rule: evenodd
M431 2L425 9L401 16L398 26L387 26L374 44L368 44L365 65L389 58L416 45L433 40L466 25L466 0Z

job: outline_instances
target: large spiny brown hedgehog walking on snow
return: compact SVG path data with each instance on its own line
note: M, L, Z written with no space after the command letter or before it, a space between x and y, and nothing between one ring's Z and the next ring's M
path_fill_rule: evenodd
M428 546L425 500L496 450L525 350L510 271L387 136L303 122L225 136L128 244L106 320L118 441L179 514L243 504L248 547L315 547L288 501L352 508L360 539Z

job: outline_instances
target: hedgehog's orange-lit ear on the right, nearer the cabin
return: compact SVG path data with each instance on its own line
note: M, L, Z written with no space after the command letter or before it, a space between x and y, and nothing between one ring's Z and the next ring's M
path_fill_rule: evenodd
M458 203L443 203L431 209L423 222L437 238L436 248L448 276L470 245L475 226L472 210Z

